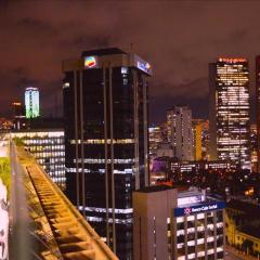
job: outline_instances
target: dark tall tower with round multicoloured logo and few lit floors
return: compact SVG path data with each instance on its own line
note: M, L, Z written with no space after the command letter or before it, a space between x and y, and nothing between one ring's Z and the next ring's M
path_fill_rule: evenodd
M148 185L147 62L119 49L63 63L67 196L132 259L132 191Z

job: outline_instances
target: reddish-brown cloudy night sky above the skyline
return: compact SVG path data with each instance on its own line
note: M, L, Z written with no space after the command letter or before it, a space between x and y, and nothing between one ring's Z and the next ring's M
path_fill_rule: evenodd
M62 113L62 61L118 47L152 63L151 121L172 105L208 115L208 63L260 54L260 1L1 1L0 116L38 87L46 116ZM57 101L57 102L55 102Z

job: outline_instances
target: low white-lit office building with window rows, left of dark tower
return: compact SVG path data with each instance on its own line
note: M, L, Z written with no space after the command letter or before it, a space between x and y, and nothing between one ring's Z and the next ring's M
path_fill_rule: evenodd
M65 145L63 129L22 129L11 132L42 166L61 190L65 191Z

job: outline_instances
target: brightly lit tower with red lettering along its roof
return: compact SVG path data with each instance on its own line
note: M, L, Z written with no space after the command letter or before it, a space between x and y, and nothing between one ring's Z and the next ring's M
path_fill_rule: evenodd
M246 58L220 57L209 65L211 158L217 154L245 169L250 169L248 74Z

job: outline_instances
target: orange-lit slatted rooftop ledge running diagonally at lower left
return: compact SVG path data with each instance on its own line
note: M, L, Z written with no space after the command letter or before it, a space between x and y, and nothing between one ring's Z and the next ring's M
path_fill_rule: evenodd
M30 208L34 212L38 212L35 217L41 218L42 227L52 232L49 237L51 243L44 244L49 252L53 253L53 259L118 260L28 153L18 150L18 161L28 173L31 183L29 184L28 179L25 179L26 188L29 190L30 194L28 199L31 200L37 195L37 199L32 199L35 203L29 204ZM31 187L35 192L31 191ZM36 207L37 200L40 207L39 205ZM43 233L46 232L43 231Z

